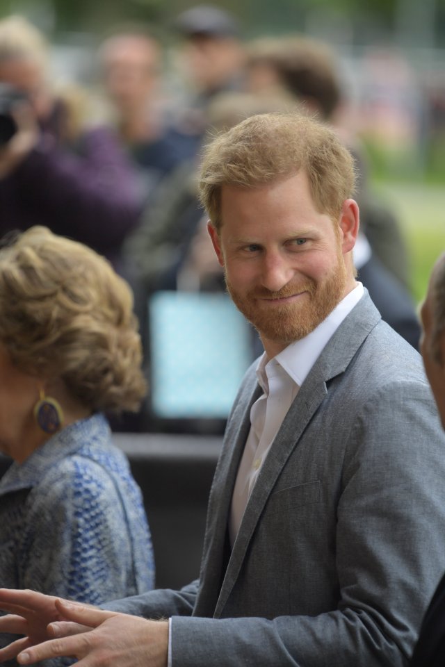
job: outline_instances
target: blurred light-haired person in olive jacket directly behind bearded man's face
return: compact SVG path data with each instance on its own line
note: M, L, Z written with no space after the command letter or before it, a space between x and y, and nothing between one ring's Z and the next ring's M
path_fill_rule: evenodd
M259 96L245 92L222 92L209 102L207 134L203 144L217 131L241 120L270 111L286 111L295 100L280 94ZM156 290L225 290L223 270L218 263L209 234L207 217L198 199L199 155L178 165L161 183L153 206L143 215L138 229L129 235L123 248L127 273L132 274L136 312L148 338L147 302ZM256 332L252 354L262 352ZM149 363L149 350L146 350ZM253 358L253 357L252 357Z

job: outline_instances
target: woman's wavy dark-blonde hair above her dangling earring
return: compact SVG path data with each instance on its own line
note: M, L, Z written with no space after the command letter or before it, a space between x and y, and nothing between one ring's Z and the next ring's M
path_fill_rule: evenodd
M0 341L23 372L62 379L92 412L145 395L133 296L82 243L31 227L0 248Z

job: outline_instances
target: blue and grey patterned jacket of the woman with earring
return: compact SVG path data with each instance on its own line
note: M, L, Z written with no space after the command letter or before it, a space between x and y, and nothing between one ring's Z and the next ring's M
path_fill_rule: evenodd
M0 586L90 604L154 587L142 495L103 415L65 427L1 478Z

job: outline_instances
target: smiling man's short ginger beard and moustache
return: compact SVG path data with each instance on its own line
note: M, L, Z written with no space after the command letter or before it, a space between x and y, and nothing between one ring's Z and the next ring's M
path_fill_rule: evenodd
M252 322L261 338L286 347L305 338L332 313L343 298L346 277L346 266L340 253L337 266L323 282L306 279L304 283L288 283L279 292L259 287L243 295L226 276L226 286L238 310ZM273 306L261 302L261 299L282 299L302 292L306 294L289 304Z

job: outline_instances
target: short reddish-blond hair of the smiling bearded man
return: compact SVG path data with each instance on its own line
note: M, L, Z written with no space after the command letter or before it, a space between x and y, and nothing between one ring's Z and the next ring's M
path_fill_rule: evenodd
M303 170L320 213L337 220L355 188L354 161L327 125L301 113L254 115L204 149L200 200L216 229L225 185L252 188Z

